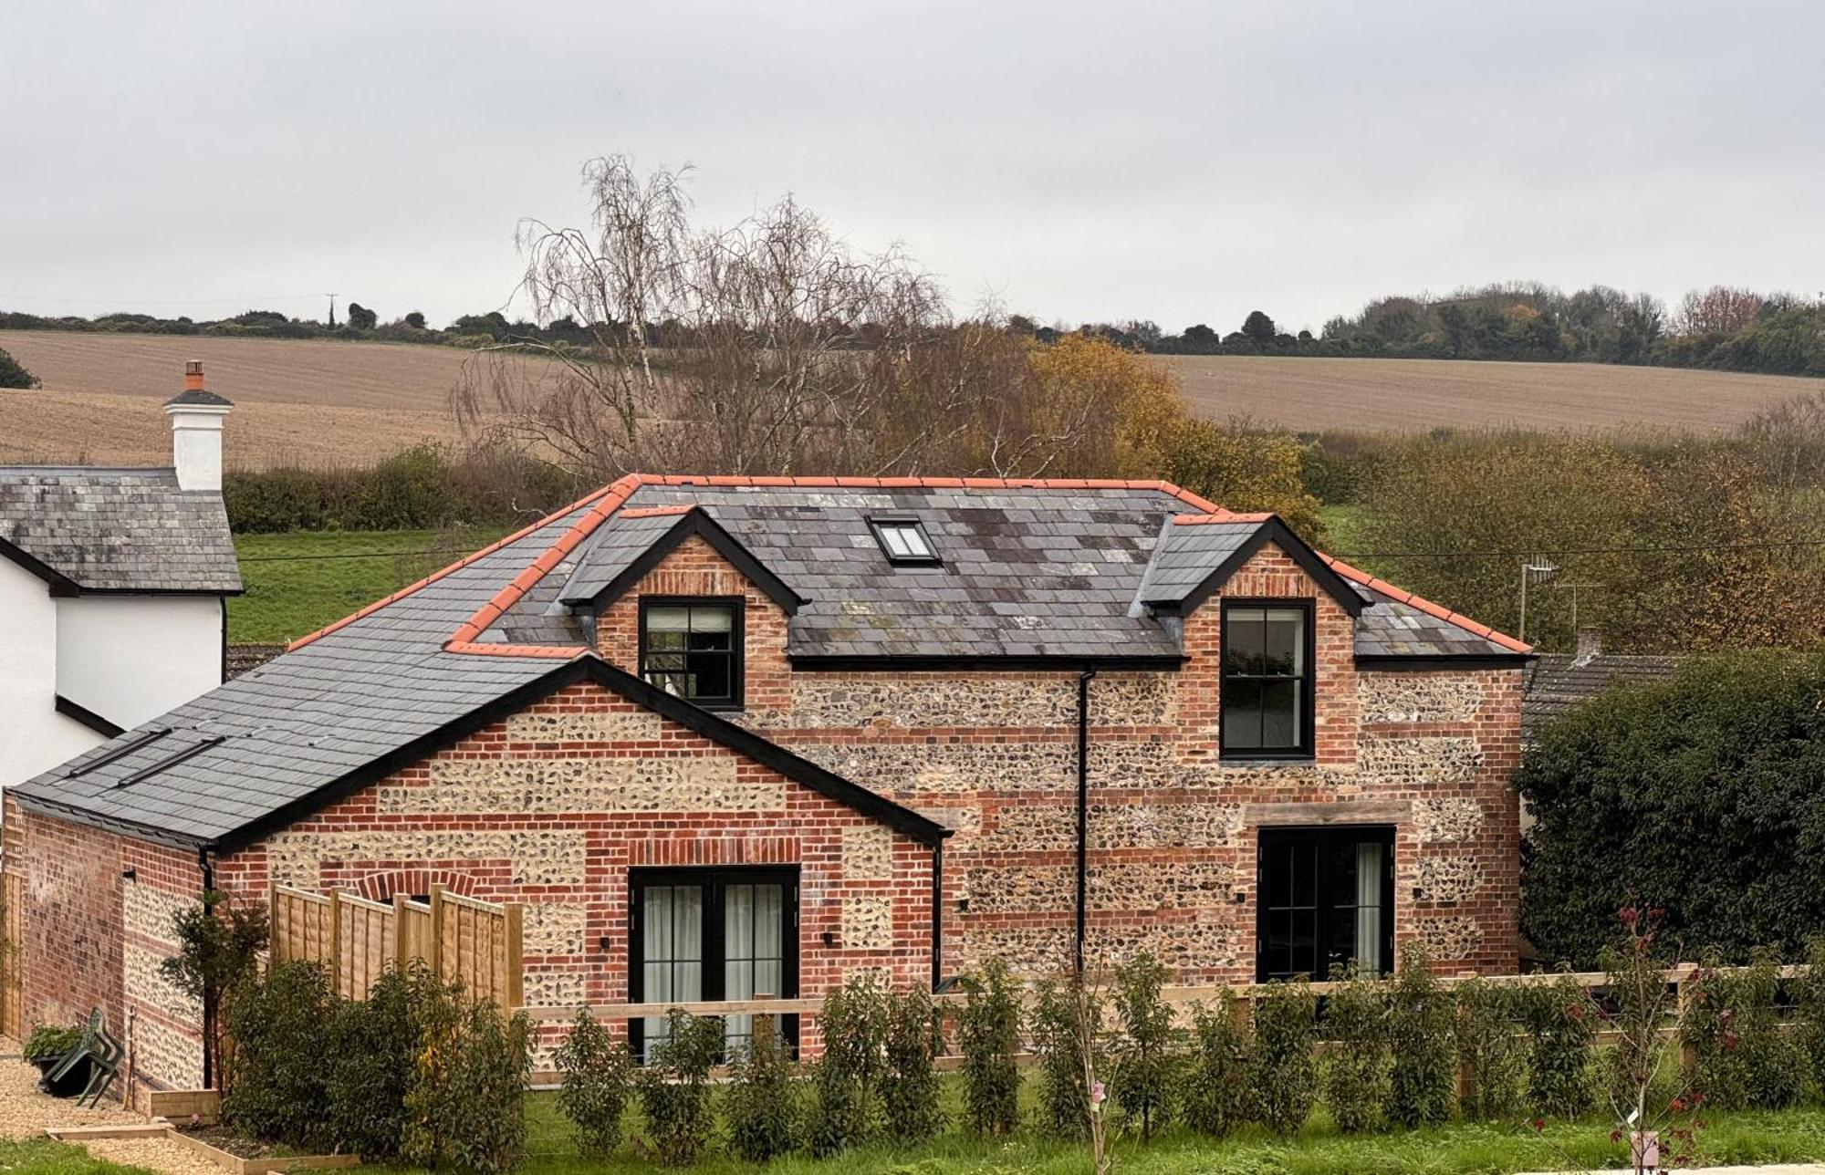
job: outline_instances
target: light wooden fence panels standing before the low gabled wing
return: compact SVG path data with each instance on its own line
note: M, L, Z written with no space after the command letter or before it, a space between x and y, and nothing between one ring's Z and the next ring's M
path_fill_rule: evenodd
M274 965L323 963L336 993L350 1000L365 1000L389 967L412 960L504 1009L526 998L524 907L449 894L442 885L431 887L431 901L396 894L391 905L274 885L270 907Z

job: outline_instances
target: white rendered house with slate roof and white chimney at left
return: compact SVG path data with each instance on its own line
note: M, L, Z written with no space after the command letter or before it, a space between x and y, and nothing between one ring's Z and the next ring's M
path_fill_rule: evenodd
M0 786L221 684L228 407L190 363L172 467L0 465Z

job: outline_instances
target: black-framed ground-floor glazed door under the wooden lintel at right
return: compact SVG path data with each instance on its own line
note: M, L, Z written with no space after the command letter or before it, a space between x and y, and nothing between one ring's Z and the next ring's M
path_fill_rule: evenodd
M1256 872L1259 982L1394 969L1392 828L1263 828Z

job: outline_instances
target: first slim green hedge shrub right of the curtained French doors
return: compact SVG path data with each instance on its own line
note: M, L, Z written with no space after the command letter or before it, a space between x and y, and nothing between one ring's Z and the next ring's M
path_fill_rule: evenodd
M807 1135L814 1155L836 1155L869 1140L878 1120L887 1053L887 1002L872 976L852 978L823 996L818 1013L823 1055L812 1067Z

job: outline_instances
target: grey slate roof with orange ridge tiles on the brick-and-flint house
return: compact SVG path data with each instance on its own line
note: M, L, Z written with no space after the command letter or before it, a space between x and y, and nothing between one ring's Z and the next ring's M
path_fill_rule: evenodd
M301 816L339 788L414 761L402 755L423 757L464 721L542 688L566 666L599 666L584 648L593 633L562 600L573 588L589 595L584 588L626 578L642 542L673 533L683 515L652 507L699 507L796 595L788 655L807 668L858 657L1166 668L1181 659L1177 624L1132 608L1161 533L1228 525L1168 527L1201 507L1159 484L670 482L624 478L13 794L27 806L184 845L232 845ZM916 516L942 562L891 564L867 525L878 513ZM1279 524L1243 525L1254 533ZM1228 555L1234 547L1221 544L1179 551L1173 577L1190 582L1197 567L1217 569ZM1400 602L1341 575L1330 582L1358 597L1360 657L1518 666L1526 655L1506 637L1475 631L1475 622L1434 615L1444 611L1436 606ZM710 737L759 743L690 702L648 699L641 691L650 688L606 673L606 684L642 704L690 712ZM168 733L150 737L159 730Z

